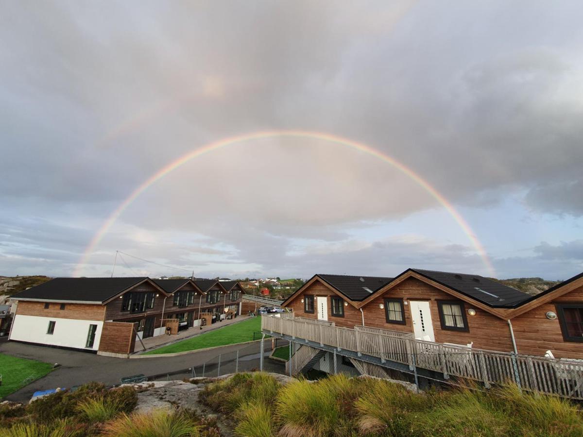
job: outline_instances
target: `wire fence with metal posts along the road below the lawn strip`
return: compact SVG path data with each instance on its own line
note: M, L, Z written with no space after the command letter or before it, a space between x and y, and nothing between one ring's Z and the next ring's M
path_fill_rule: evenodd
M242 345L237 350L217 354L205 362L193 362L192 366L187 369L153 375L148 379L153 381L177 380L197 376L215 378L229 373L258 371L261 367L265 372L285 374L285 362L269 358L269 355L276 348L288 346L287 340L270 337L264 341L263 365L261 364L261 341L256 341L245 346Z

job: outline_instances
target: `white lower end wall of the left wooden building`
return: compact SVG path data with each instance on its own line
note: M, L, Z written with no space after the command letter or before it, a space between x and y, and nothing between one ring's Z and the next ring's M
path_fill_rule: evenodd
M55 330L47 334L48 322L54 320ZM97 325L92 348L86 348L89 325ZM59 319L55 317L25 316L17 314L12 322L10 340L29 341L30 343L51 344L52 346L74 347L98 350L101 340L102 320Z

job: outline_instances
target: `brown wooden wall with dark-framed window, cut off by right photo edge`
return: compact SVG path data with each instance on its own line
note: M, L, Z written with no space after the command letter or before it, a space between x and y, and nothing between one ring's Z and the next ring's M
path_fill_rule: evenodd
M559 318L549 320L547 311L556 312L556 304L583 302L583 287L577 288L553 301L537 306L512 319L512 329L518 353L544 355L550 350L556 358L577 358L583 360L583 343L563 340Z

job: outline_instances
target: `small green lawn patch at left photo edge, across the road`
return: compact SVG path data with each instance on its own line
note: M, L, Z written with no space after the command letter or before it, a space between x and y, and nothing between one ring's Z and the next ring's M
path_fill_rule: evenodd
M51 368L52 365L46 362L0 354L0 373L2 374L0 399L16 392L35 379L42 378L51 371Z

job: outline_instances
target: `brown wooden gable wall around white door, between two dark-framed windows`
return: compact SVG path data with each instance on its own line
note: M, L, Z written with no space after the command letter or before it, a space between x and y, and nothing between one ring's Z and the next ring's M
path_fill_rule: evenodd
M437 343L468 344L473 341L473 347L496 351L511 352L512 340L508 323L489 312L476 308L468 302L463 302L466 318L468 319L469 332L459 332L441 329L437 300L458 300L451 294L438 290L419 279L409 278L398 286L391 288L389 292L373 299L363 307L364 325L381 327L395 331L413 332L410 305L403 305L405 309L405 325L387 323L385 310L379 308L384 303L384 298L402 298L403 303L409 300L429 301L431 308L431 322ZM476 315L468 315L468 309L476 310Z

